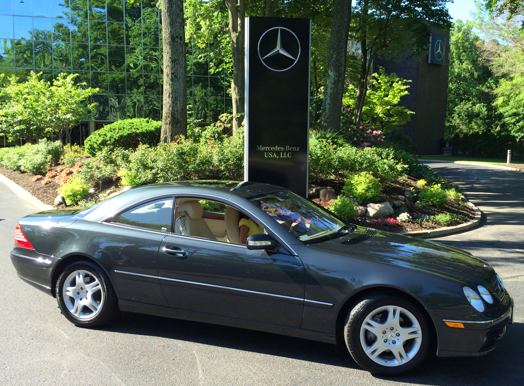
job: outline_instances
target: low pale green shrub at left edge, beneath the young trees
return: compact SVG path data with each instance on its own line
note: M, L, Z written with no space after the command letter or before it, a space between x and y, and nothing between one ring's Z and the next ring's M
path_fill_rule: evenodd
M47 172L49 164L57 164L62 155L59 141L41 139L38 144L26 144L0 149L0 165L31 174Z

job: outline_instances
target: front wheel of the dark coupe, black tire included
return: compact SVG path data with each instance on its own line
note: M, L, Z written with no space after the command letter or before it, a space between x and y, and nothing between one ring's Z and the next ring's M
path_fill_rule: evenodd
M376 375L397 376L419 366L428 355L429 339L419 308L391 294L367 296L345 319L347 349L359 366Z

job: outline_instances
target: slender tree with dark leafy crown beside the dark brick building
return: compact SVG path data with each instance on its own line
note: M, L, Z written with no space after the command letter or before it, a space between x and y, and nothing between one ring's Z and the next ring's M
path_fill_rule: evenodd
M361 70L357 85L355 124L362 120L372 59L418 53L428 48L430 25L449 26L445 0L357 0L350 35L360 44Z

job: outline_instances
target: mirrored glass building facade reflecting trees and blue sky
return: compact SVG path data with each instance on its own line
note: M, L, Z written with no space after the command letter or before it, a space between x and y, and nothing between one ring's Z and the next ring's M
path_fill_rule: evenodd
M0 73L60 72L100 91L86 120L161 119L162 26L157 0L0 0ZM188 104L198 122L231 111L231 79L187 46Z

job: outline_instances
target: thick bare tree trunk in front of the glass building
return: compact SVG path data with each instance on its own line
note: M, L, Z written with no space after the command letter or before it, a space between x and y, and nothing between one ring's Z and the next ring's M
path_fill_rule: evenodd
M187 134L187 80L182 0L161 0L163 37L163 101L160 141Z

